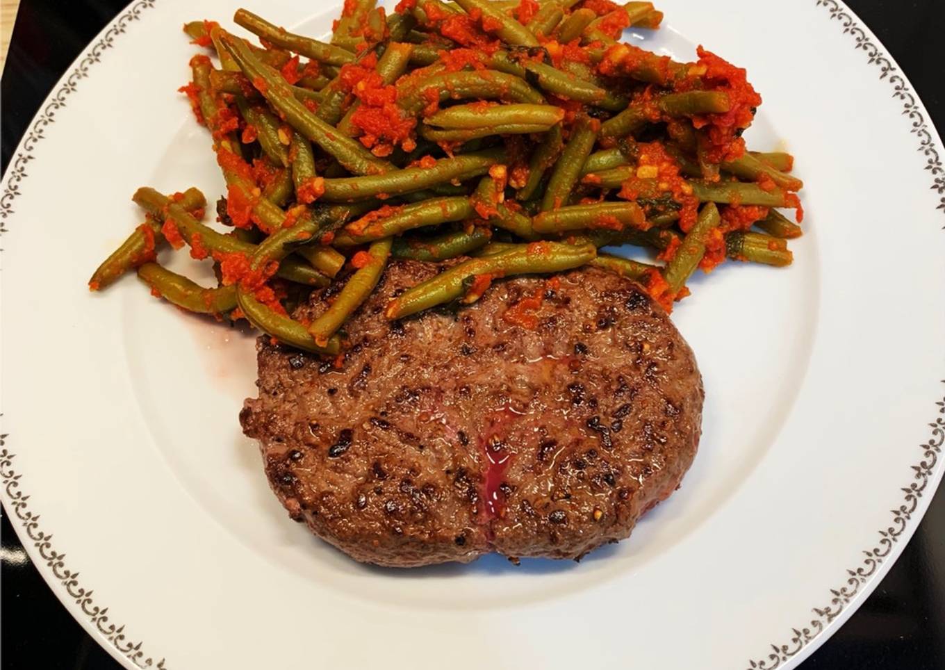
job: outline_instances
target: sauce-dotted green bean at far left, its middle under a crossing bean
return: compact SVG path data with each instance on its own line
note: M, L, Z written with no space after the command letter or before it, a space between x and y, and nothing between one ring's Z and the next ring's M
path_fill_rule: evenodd
M177 225L180 236L192 247L194 246L194 236L199 235L200 244L211 252L242 253L249 257L256 251L255 245L247 244L230 235L216 232L209 226L204 226L180 207L179 203L171 202L153 188L139 188L131 199L161 220L165 216L173 220ZM328 283L328 278L314 267L307 266L293 258L283 260L279 266L278 275L290 282L304 283L310 286L322 286Z

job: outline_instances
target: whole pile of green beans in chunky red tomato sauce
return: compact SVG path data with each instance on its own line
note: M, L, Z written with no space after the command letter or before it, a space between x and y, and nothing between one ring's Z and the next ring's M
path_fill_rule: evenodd
M207 51L181 91L210 131L227 184L217 220L230 230L202 220L196 188L140 188L144 223L90 289L136 270L181 309L337 356L391 259L448 262L388 301L391 319L580 266L642 283L671 309L700 266L791 264L794 158L744 149L747 82L722 81L704 56L619 42L621 26L660 26L652 3L399 7L348 0L328 40L247 9L232 21L249 39L186 24ZM215 264L216 286L162 265L164 249L184 245ZM621 245L653 258L598 250ZM303 322L288 312L306 295L317 316Z

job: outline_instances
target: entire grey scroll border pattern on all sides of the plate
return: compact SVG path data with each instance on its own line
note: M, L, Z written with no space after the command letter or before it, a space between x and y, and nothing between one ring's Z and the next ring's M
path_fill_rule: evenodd
M7 184L4 187L3 195L0 196L0 233L7 230L2 221L13 214L12 205L17 196L20 195L20 182L27 177L27 163L33 160L33 151L37 143L45 138L45 128L56 120L56 112L65 107L67 96L76 92L78 80L88 77L89 68L94 63L101 61L103 52L112 48L115 38L125 33L130 22L137 21L140 18L143 9L153 8L155 2L156 0L138 0L116 17L102 38L92 45L82 60L78 61L69 77L66 77L62 82L56 93L50 96L45 107L28 130L22 150L17 152L16 157L8 166L7 174L5 174ZM838 2L838 0L816 0L816 6L828 9L830 18L840 22L844 34L850 34L853 37L855 40L854 48L863 49L867 52L868 64L880 68L880 79L888 77L888 81L893 87L893 97L902 101L902 113L912 121L911 132L919 138L918 150L926 158L925 169L929 171L933 178L931 188L941 196L936 209L945 214L945 168L942 166L931 127L922 112L919 111L918 98L909 90L905 78L895 74L897 67L893 64L893 61L869 39L866 31L856 23L852 12L845 5ZM945 229L945 226L943 226L943 229ZM945 380L942 380L942 382L945 383ZM773 668L780 667L783 662L797 656L804 647L813 642L824 631L825 627L846 609L851 600L859 593L860 588L868 582L869 577L875 574L885 558L888 557L894 544L899 541L899 537L912 520L912 514L919 507L919 499L928 486L929 479L935 473L938 455L941 453L943 444L945 444L945 397L938 401L936 405L938 406L939 415L942 416L929 424L932 428L931 437L927 442L920 445L922 459L917 465L911 467L915 472L913 477L915 481L908 487L902 488L904 493L902 505L891 510L892 523L885 530L879 531L880 540L877 545L864 550L863 553L866 558L860 566L856 569L847 570L847 580L842 587L831 589L833 597L830 604L813 609L816 613L816 619L812 619L808 627L792 628L792 637L789 643L770 644L771 651L767 657L758 661L748 661L747 670L773 670ZM23 525L26 536L34 542L40 556L46 562L46 567L60 581L66 593L76 601L77 606L89 617L104 639L114 649L139 668L167 670L163 659L155 663L151 657L146 656L145 652L141 650L141 642L135 643L128 640L124 632L124 625L115 626L110 623L109 609L107 607L100 608L94 604L92 597L94 592L79 585L79 574L72 572L65 566L63 560L65 554L60 554L53 549L51 543L53 536L40 529L40 515L27 509L26 501L29 496L19 490L22 475L11 467L12 460L16 455L10 454L5 448L7 437L6 434L0 435L0 481L2 481L0 486L7 495L7 506Z

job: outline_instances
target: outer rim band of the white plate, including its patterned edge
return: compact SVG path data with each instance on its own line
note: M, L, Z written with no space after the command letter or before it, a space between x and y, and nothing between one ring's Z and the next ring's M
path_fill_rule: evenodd
M910 133L919 139L918 151L926 158L924 169L930 173L931 188L940 196L936 211L945 215L945 168L941 160L941 139L908 77L886 51L883 43L843 0L816 0L815 5L826 11L827 20L838 23L842 33L850 37L854 49L864 52L867 64L878 68L880 80L885 80L891 86L892 97L902 103L902 114L912 121ZM100 62L101 55L112 48L114 41L125 34L129 26L134 25L133 22L141 19L145 9L155 6L156 0L129 2L79 53L45 97L39 111L27 124L26 132L3 175L0 233L6 232L5 223L15 213L13 204L21 193L21 182L28 176L27 165L35 159L33 151L45 137L43 130L55 121L56 112L65 107L68 96L77 91L78 82L89 77L89 69ZM945 230L945 225L942 230ZM945 384L945 379L941 382ZM921 458L910 466L913 471L912 481L908 486L900 487L901 503L898 508L890 510L892 520L885 528L877 531L879 540L861 550L865 558L858 565L845 570L843 584L830 590L829 603L811 609L815 617L806 625L792 627L790 637L785 636L786 643L769 643L765 654L749 658L746 670L795 666L806 659L859 608L902 554L902 549L912 538L929 507L932 494L945 470L939 463L945 444L945 395L935 404L938 416L928 424L931 429L929 438L919 444ZM2 417L0 413L0 421ZM156 656L148 656L143 650L143 641L135 642L126 634L125 624L112 623L109 608L95 604L93 590L82 586L79 573L72 571L65 563L65 554L54 548L53 535L40 527L40 515L28 508L27 501L31 496L21 487L23 475L14 468L13 459L16 455L7 449L7 438L9 434L0 434L0 502L7 509L10 521L15 519L18 522L11 525L43 579L63 607L116 661L129 668L167 670L164 658L155 661Z

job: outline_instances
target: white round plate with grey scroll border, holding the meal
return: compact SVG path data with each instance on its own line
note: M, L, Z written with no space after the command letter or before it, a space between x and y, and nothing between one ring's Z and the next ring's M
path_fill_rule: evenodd
M288 520L240 433L251 336L133 279L86 290L140 218L135 187L221 192L175 90L194 50L181 24L235 3L136 2L60 81L0 198L0 472L26 550L115 658L793 667L872 591L943 470L941 141L840 3L777 22L739 0L660 6L654 48L685 60L705 43L747 66L765 97L749 145L797 155L809 233L790 269L730 264L679 306L708 394L696 464L629 541L580 564L355 564ZM311 34L337 11L305 7L249 1Z

